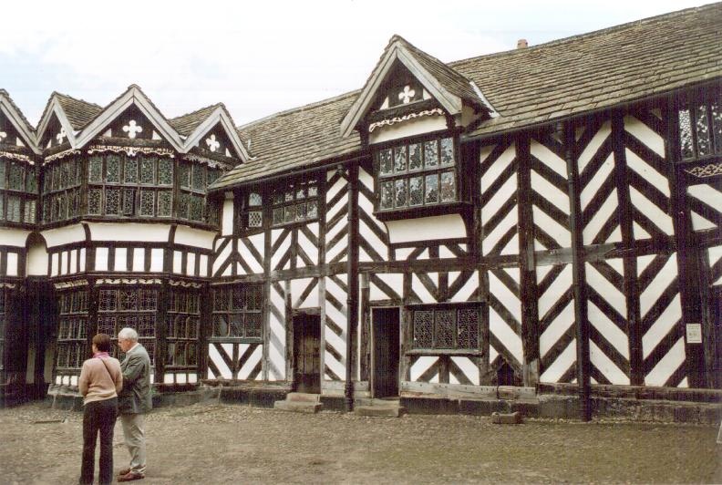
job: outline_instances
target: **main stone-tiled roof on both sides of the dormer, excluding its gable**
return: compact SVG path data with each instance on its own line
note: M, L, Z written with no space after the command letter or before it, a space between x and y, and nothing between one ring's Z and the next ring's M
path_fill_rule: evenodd
M435 76L445 76L433 60L425 66L434 69ZM451 73L474 81L500 113L471 127L468 137L582 115L684 86L722 82L722 3L465 59L449 67L454 69ZM459 79L450 76L445 82L460 89ZM348 139L338 135L339 120L358 93L241 127L242 139L251 140L257 159L236 167L212 188L317 165L359 150L356 132Z

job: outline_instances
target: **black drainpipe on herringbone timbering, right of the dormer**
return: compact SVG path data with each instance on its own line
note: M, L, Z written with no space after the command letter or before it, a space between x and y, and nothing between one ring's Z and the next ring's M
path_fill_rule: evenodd
M586 274L584 270L584 241L582 202L580 200L579 168L574 150L574 127L571 122L562 126L564 158L567 164L567 187L569 193L569 226L572 232L572 288L574 291L574 322L576 323L577 383L579 386L580 416L583 421L592 418L590 402L590 356L589 320L587 319Z

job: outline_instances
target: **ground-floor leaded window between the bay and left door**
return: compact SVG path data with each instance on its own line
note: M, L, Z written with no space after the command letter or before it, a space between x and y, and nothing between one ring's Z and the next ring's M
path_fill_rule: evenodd
M213 334L215 340L263 337L263 290L260 284L223 284L213 288Z

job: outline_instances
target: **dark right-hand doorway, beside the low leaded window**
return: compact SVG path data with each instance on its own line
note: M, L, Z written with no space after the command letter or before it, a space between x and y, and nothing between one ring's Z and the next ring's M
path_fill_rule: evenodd
M373 311L374 397L398 396L398 314L398 308L377 308Z

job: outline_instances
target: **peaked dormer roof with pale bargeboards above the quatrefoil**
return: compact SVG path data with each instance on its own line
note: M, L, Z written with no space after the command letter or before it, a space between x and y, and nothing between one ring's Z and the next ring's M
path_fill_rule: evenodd
M473 106L486 108L486 104L471 86L469 79L453 68L445 65L436 57L409 44L401 36L392 36L381 55L364 88L358 94L354 104L341 121L341 133L347 137L356 129L376 97L376 91L394 65L401 62L418 79L418 82L436 98L449 114L461 112L462 101Z

